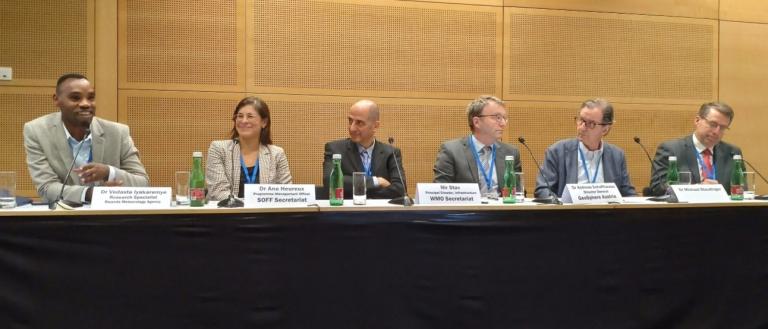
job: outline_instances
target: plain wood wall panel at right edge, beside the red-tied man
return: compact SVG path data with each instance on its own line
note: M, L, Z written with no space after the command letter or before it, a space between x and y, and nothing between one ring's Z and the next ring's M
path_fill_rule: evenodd
M768 25L721 22L720 100L736 112L725 139L739 145L744 157L763 174L768 171L765 152L768 122ZM768 185L758 183L758 193Z

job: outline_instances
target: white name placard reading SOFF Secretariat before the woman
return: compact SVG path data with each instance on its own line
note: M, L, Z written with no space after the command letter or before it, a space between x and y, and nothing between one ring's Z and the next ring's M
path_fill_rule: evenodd
M315 185L245 184L243 197L247 208L306 206L315 203Z

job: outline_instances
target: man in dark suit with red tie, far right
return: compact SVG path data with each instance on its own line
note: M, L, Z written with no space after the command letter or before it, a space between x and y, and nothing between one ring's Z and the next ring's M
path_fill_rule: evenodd
M691 183L723 184L730 193L733 156L741 154L741 149L721 140L733 123L733 117L733 109L728 104L703 104L693 120L693 134L661 143L656 149L651 172L653 195L666 193L670 155L677 157L678 170L691 172Z

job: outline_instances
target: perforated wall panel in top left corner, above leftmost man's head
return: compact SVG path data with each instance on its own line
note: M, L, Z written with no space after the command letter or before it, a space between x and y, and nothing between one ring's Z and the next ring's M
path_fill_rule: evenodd
M93 74L93 0L0 1L1 86L55 86L63 73Z

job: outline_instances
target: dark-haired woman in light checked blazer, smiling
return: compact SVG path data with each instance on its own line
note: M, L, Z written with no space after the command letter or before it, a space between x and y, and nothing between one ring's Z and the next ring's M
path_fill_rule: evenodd
M243 98L232 121L232 138L213 141L208 148L208 198L226 199L230 191L242 198L244 184L291 184L288 158L281 147L272 145L267 103L258 97Z

